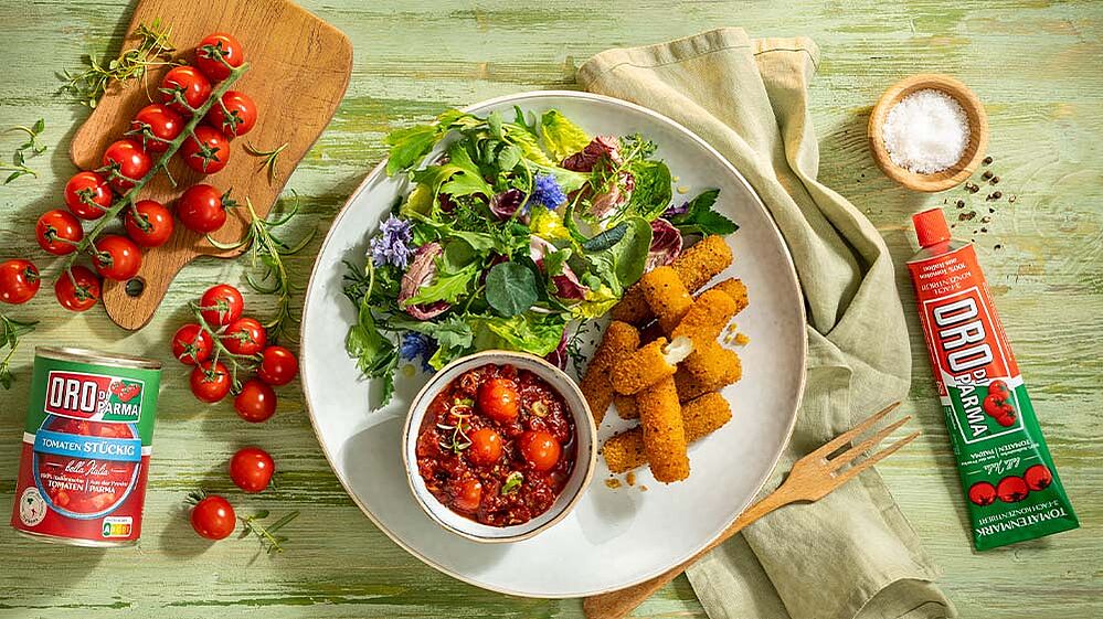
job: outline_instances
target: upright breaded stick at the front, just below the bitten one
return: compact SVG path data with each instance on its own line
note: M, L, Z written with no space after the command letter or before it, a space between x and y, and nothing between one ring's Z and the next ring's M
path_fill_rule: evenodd
M655 479L670 483L689 477L686 429L681 425L681 405L674 380L668 376L640 392L636 407L639 408L644 453Z

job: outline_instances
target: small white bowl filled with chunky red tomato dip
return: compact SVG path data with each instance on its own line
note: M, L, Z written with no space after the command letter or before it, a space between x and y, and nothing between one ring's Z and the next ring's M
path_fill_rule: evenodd
M597 430L579 386L527 353L457 359L414 398L403 463L422 510L476 542L529 538L590 484Z

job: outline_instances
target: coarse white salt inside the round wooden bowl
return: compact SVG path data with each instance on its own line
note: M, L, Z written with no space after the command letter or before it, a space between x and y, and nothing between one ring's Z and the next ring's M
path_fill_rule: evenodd
M969 143L969 118L953 97L926 88L892 106L881 135L893 163L931 174L962 158Z

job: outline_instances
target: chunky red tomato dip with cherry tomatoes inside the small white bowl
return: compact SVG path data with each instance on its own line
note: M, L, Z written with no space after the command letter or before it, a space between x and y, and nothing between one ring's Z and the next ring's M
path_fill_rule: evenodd
M512 365L459 375L433 398L417 434L417 472L458 514L491 526L547 512L574 469L576 430L547 381Z

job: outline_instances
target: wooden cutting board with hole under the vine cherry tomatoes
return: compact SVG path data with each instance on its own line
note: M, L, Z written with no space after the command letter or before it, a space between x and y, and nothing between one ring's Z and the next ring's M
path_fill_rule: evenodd
M222 171L204 177L173 157L169 170L177 185L162 173L146 185L140 198L171 209L187 188L205 182L222 191L232 188L232 196L242 204L247 196L257 215L265 216L344 96L352 70L352 44L341 31L287 0L140 0L124 47L137 46L134 31L158 18L172 28L176 53L189 63L193 62L195 45L213 32L231 33L242 43L251 68L232 89L256 103L258 119L252 131L231 142L230 162ZM147 89L157 97L157 86L167 71L160 67L149 72L145 84L116 83L108 89L73 138L70 157L77 167L93 170L100 166L107 146L120 139L135 114L150 103ZM278 177L269 181L261 169L263 159L245 152L244 146L271 150L285 142L288 146L277 160ZM232 211L226 225L212 236L223 243L233 242L241 238L247 222L247 211ZM197 256L230 258L244 250L220 250L179 221L176 223L167 244L146 252L137 276L144 286L129 287L130 292L140 288L139 294L131 296L126 282L105 281L104 306L119 327L135 330L149 322L172 278Z

